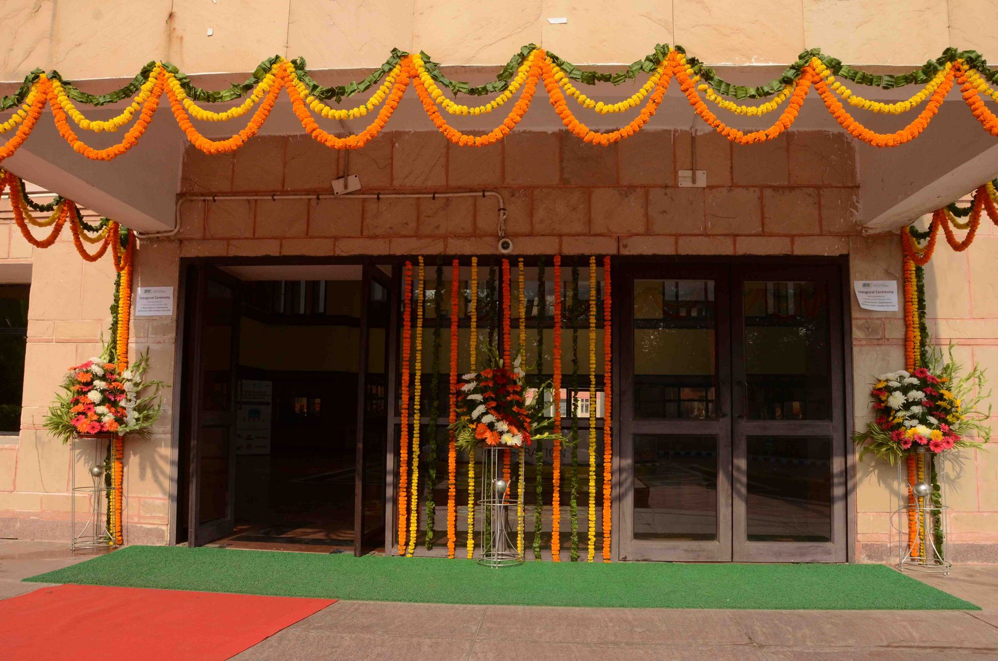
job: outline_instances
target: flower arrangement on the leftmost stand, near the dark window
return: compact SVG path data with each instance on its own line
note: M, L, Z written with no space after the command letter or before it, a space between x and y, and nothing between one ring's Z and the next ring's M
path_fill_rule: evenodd
M74 434L148 436L163 410L159 380L144 381L149 352L128 369L111 361L110 350L71 367L45 416L45 428L68 442ZM143 391L152 388L144 395Z

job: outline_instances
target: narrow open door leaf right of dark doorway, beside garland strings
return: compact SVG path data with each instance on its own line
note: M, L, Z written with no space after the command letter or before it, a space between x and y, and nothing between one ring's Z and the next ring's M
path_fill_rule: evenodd
M390 268L386 268L389 269ZM385 471L388 448L388 377L397 308L392 280L382 268L363 269L360 354L357 369L357 459L353 498L353 554L384 543Z

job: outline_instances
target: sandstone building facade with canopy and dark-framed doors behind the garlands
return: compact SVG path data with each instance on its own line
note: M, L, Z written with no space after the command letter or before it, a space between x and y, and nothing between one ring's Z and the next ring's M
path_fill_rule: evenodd
M221 4L212 11L234 11ZM316 13L333 17L329 7L284 4L289 18L275 25L287 36L278 52L310 56L319 41L326 44L323 49L332 48L327 44L337 40L319 40L308 32L318 29L317 23L306 27L305 20ZM852 9L859 12L855 21L830 27L818 18L843 3L789 3L792 7L780 13L786 18L761 26L761 34L771 38L753 33L750 41L741 29L725 32L730 39L718 37L724 25L744 23L737 20L741 9L735 5L730 8L734 14L721 19L696 3L681 4L677 0L674 12L659 17L668 23L664 37L658 36L661 21L652 17L597 26L588 24L577 7L524 8L521 14L530 14L530 20L524 19L501 44L486 44L484 37L459 39L463 32L455 19L444 20L437 8L417 12L398 7L390 18L375 22L389 26L387 32L368 30L366 21L373 18L358 9L355 18L362 15L363 20L353 30L376 32L373 41L386 46L378 49L381 55L393 46L413 52L424 48L444 65L468 65L460 72L475 82L531 41L565 57L573 50L588 53L587 66L600 68L623 57L612 53L630 53L636 35L647 34L642 43L678 42L709 62L713 57L729 63L723 69L726 76L746 84L768 80L778 70L766 65L785 65L805 47L820 45L850 62L890 65L894 68L885 71L893 72L934 58L949 45L987 54L993 42L982 36L990 35L987 26L969 27L961 13L969 10L957 2L908 9L912 29L929 38L914 40L927 49L916 53L906 37L903 55L898 54L900 45L881 50L886 47L866 39L863 30L846 29L846 23L864 24L872 10ZM63 24L62 9L41 6L51 10L51 25ZM240 7L239 16L245 18L246 8ZM227 17L236 17L203 12L193 4L175 9L153 56L133 53L132 45L115 46L120 52L109 58L115 66L100 57L84 64L62 55L72 50L67 37L50 28L16 58L8 54L4 79L27 73L21 61L55 65L65 69L67 78L101 79L132 75L145 60L131 69L122 63L136 57L172 59L192 74L219 71L217 66L232 72L254 66L240 48L218 49L220 43L236 43L224 29L203 36L203 23L225 25ZM566 13L565 25L547 21ZM38 15L32 13L26 25L44 27ZM698 15L703 21L694 20ZM947 29L925 20L940 15L949 17ZM147 22L158 26L162 20ZM683 21L691 27L684 28ZM711 29L696 27L704 21ZM601 29L608 33L597 38ZM396 32L409 36L388 44L385 40L398 36ZM185 41L187 35L191 39ZM290 35L301 43L291 43ZM583 42L596 44L595 50L583 50ZM43 57L39 49L45 44L49 50ZM309 66L348 70L379 65L367 48L319 49L320 61L309 57ZM254 53L256 49L253 45ZM214 59L198 59L209 55ZM325 73L323 82L360 77L349 71ZM242 80L206 74L198 81L218 89L226 86L223 79ZM95 89L101 84L95 83ZM434 308L435 298L443 297L446 310L457 259L459 368L464 370L471 336L471 259L477 260L475 277L483 288L476 298L501 311L501 261L509 259L515 272L522 258L527 358L538 365L540 375L550 376L554 257L561 256L559 305L567 306L561 373L566 396L574 389L584 395L575 407L584 411L576 423L581 430L575 448L583 547L593 488L587 484L592 418L585 311L598 299L600 332L604 322L613 329L607 356L614 390L613 559L892 558L901 504L897 471L870 459L857 461L850 436L871 419L873 376L903 366L904 323L901 311L861 309L853 282L900 284L897 230L991 179L998 171L993 138L968 120L954 91L933 126L911 145L877 150L853 140L820 101L809 100L790 130L744 146L695 119L674 85L669 101L641 133L609 147L586 144L564 130L542 90L522 128L480 149L449 143L433 130L420 117L418 101L409 98L415 96L412 91L392 124L356 151L329 150L305 135L294 126L285 97L268 128L232 154L209 156L186 144L170 126L169 111L161 109L157 128L135 153L76 168L72 159L78 155L58 144L58 134L43 117L44 132L32 136L24 153L4 167L134 227L139 232L136 287L169 287L175 294L171 314L133 321L134 350L148 349L152 375L172 387L154 434L125 443L126 542L223 539L249 547L361 546L369 541L367 533L373 533L370 545L391 552L398 543L403 422L401 292L406 263L417 269L421 257L425 290L434 296L424 297L420 382L427 391L434 384L437 344L439 403L433 404L429 395L422 400L424 415L436 413L437 423L425 428L437 434L438 442L433 450L429 443L422 448L415 529L423 549L426 518L432 512L437 521L434 549L417 552L446 553L450 339L448 324L442 327L443 338L433 340L437 321L443 319ZM118 86L107 84L109 89ZM634 92L628 85L622 88L628 89L609 89L608 98L619 101ZM870 94L880 94L877 98L884 102L908 96L904 88L874 88ZM454 123L480 131L498 124L501 116L486 117ZM366 124L360 119L339 128L355 130ZM886 130L880 119L871 125ZM606 116L594 125L616 126ZM228 135L219 130L219 137ZM101 168L106 170L99 172ZM332 195L333 180L348 182L354 176L359 190ZM998 299L989 284L996 270L989 251L993 235L993 228L982 226L969 250L954 253L942 247L926 267L932 341L943 346L955 341L960 361L992 370L998 368ZM512 242L508 255L500 252L500 238ZM589 287L591 256L598 264L596 289ZM604 285L605 257L613 274L609 288ZM0 226L0 258L3 283L30 283L20 430L0 437L0 535L66 539L71 471L83 476L88 465L45 432L42 418L66 368L99 351L110 320L115 273L107 261L80 260L69 236L42 250L32 248L14 225ZM442 281L435 277L438 265ZM578 297L576 278L581 283ZM521 290L514 285L512 291L516 328ZM607 299L610 319L602 312ZM484 309L478 314L479 341L492 332L501 334L497 314ZM444 317L449 322L449 315ZM415 322L411 328L417 328ZM578 381L572 378L573 331ZM600 346L594 373L600 382L596 428L602 429L606 391L600 332L593 338ZM513 345L520 346L518 340ZM572 424L568 412L566 407L566 429ZM425 459L430 451L436 453L435 462ZM594 459L601 478L603 460ZM459 466L465 461L462 457ZM549 557L550 549L553 461L551 454L529 456L529 474L536 477L539 462L542 476L547 475L540 494L541 529L547 535L543 557ZM563 448L559 461L569 470L571 449ZM998 549L998 496L993 493L998 459L988 450L961 452L948 464L947 477L949 556L962 562L993 561ZM561 479L561 545L568 548L570 473ZM459 494L466 483L464 477L457 481ZM533 488L529 480L527 488ZM426 508L428 496L435 507ZM456 510L459 557L467 530L462 497ZM600 514L592 519L600 526L602 497L601 491ZM528 536L535 530L536 501L536 493L527 498Z

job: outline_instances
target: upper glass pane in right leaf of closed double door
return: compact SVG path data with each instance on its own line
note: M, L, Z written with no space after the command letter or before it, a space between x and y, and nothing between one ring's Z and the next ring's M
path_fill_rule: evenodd
M746 283L749 418L831 416L828 298L823 283Z

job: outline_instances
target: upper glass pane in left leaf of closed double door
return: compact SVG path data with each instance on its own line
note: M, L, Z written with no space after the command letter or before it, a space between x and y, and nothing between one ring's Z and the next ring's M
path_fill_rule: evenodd
M635 417L716 417L716 305L714 281L635 281Z

